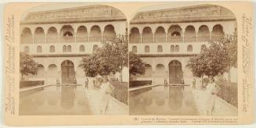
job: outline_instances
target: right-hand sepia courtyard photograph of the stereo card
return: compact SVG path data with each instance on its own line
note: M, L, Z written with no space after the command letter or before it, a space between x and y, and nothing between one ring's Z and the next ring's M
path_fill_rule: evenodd
M236 17L210 4L150 5L129 27L129 114L237 116Z

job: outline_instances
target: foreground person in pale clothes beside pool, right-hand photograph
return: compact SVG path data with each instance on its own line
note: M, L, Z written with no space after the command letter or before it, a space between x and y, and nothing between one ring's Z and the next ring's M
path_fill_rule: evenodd
M213 76L209 78L206 91L206 113L208 116L212 116L212 113L215 111L215 98L217 97L218 91L220 91L220 87L215 84L215 79Z

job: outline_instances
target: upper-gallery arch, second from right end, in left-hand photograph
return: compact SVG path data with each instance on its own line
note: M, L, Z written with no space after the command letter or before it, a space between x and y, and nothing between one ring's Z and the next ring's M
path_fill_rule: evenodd
M95 25L91 27L89 38L90 38L90 42L97 42L102 40L102 34L99 26Z

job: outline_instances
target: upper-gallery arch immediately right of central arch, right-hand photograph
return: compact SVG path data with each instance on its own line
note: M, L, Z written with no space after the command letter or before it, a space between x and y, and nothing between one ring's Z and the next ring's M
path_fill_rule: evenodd
M185 29L185 34L184 34L184 41L186 42L195 42L197 41L197 33L195 27L192 25L189 25Z

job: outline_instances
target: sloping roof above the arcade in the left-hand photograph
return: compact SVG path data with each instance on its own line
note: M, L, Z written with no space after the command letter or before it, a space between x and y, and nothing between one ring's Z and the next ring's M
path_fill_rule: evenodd
M124 14L107 5L89 5L84 7L31 12L21 24L27 23L79 23L126 20Z

